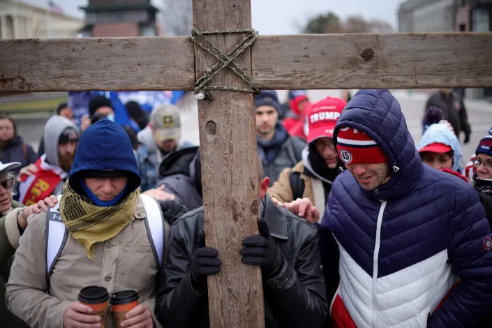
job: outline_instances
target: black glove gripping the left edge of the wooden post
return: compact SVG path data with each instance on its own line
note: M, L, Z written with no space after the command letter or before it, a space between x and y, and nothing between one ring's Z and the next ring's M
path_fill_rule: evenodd
M194 290L207 290L207 276L221 271L222 260L216 248L205 246L205 232L198 232L197 249L190 269L191 285Z

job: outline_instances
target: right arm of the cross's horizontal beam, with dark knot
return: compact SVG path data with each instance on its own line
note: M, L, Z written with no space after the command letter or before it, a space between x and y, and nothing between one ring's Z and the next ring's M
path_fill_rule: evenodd
M492 87L492 33L263 36L252 59L265 89Z

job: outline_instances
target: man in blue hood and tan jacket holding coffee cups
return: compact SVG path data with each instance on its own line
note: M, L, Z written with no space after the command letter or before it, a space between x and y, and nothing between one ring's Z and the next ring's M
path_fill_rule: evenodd
M139 185L123 128L107 119L89 126L80 138L59 212L28 219L7 284L9 310L31 327L103 324L77 301L81 288L98 285L110 295L137 292L140 304L126 313L122 325L158 325L154 298L168 228L158 204L140 195ZM61 224L61 230L52 230L52 224ZM63 251L47 258L54 238L64 240ZM116 327L112 315L106 316L105 327Z

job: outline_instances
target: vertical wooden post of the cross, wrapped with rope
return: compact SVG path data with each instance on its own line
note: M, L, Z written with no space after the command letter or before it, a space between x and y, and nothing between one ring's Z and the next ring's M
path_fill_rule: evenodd
M193 0L198 31L251 27L251 0ZM224 53L246 34L207 36ZM200 78L216 59L195 45L195 74ZM251 50L234 63L251 75ZM211 85L246 87L225 68ZM258 234L259 186L253 94L211 91L214 101L200 100L204 228L207 246L218 248L221 273L208 280L210 327L264 327L259 267L241 263L244 237Z

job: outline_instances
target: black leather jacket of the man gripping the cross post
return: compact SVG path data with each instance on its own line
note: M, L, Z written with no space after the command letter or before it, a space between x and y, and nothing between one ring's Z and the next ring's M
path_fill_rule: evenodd
M268 195L265 203L264 220L284 258L278 276L263 281L266 327L320 327L328 304L318 231L311 223L277 207ZM207 292L193 290L189 274L200 230L202 207L172 225L156 297L156 316L165 327L209 327Z

